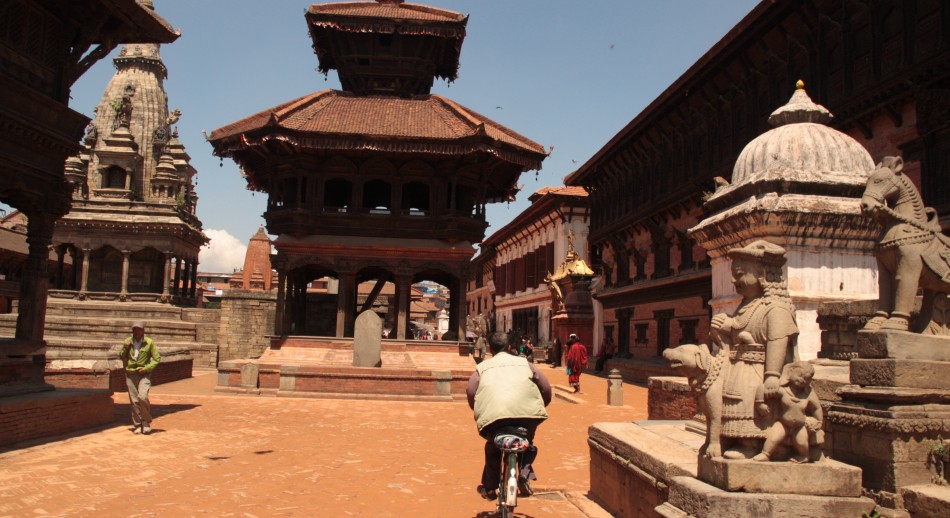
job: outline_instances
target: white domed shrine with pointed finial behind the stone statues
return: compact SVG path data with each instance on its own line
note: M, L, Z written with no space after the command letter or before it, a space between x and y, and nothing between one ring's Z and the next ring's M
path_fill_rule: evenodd
M732 182L719 179L710 216L690 229L711 259L713 313L739 303L726 252L756 239L788 253L788 291L796 308L801 359L821 346L818 305L877 298L876 223L860 210L874 168L857 141L825 125L831 114L798 89L769 117L775 126L739 155Z

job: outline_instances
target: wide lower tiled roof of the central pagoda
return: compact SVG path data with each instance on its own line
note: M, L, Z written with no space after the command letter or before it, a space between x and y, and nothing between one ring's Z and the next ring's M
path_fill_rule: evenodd
M544 148L439 95L413 99L355 96L324 90L214 130L215 154L280 139L313 149L374 149L464 154L486 151L529 169Z

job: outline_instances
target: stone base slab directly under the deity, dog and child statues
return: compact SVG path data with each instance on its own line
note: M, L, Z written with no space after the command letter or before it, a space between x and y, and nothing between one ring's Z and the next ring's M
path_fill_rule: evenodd
M861 496L861 468L828 458L818 462L796 464L701 457L698 477L726 491Z

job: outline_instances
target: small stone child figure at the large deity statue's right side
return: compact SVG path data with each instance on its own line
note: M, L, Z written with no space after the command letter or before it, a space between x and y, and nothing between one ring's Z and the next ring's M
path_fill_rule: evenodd
M752 460L771 460L779 447L787 446L794 452L789 460L804 463L809 461L810 446L824 442L821 401L811 388L814 376L815 368L799 361L786 364L782 369L780 399L766 402L764 386L759 387L756 410L772 424L765 431L762 452Z

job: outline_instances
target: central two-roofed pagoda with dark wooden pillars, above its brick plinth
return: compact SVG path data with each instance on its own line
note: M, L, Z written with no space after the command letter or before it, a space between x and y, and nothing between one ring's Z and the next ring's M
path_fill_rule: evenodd
M394 337L409 337L410 286L450 290L449 330L464 336L465 280L488 203L512 199L544 148L440 95L453 81L468 17L396 0L312 5L306 20L324 90L215 130L249 189L268 194L277 254L275 334L352 337L356 315L395 285ZM338 283L315 307L307 285ZM357 287L376 289L358 304ZM314 306L314 307L310 307ZM335 318L334 318L335 314ZM329 318L328 318L329 317Z

